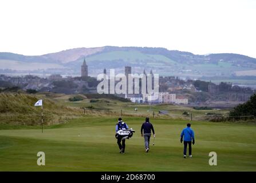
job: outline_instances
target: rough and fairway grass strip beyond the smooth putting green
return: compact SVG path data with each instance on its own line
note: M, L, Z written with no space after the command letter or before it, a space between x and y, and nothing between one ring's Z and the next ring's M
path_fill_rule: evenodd
M80 97L81 101L69 101L69 98ZM86 114L100 113L101 116L120 115L123 116L153 116L156 118L183 118L189 119L190 116L183 116L183 112L192 113L195 120L209 120L211 117L206 113L227 114L228 110L195 110L186 106L162 104L145 105L134 104L132 102L121 102L117 98L97 98L96 100L82 94L54 94L49 92L37 94L18 94L1 93L0 94L0 124L19 124L24 128L28 125L41 124L41 108L35 107L34 103L39 99L44 102L44 123L58 124L72 118L77 118L84 113L83 108L92 107L93 109L106 110L102 112L86 111ZM92 102L94 101L94 102ZM137 108L137 112L135 112ZM158 112L165 110L167 115L160 115ZM4 125L2 125L4 126ZM15 127L19 128L19 127ZM23 127L22 127L23 128Z

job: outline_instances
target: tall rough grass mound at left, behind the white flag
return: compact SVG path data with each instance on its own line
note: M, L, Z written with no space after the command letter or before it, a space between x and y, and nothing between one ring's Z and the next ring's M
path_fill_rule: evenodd
M34 106L40 100L33 94L0 93L0 123L37 125L41 123L41 106ZM82 114L79 109L57 105L43 98L44 124L63 122Z

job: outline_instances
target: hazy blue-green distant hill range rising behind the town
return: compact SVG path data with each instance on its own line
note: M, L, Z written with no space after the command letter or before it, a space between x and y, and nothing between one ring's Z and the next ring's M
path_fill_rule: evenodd
M116 46L82 47L36 56L0 53L0 68L26 70L24 64L34 63L30 67L27 66L27 70L45 69L45 73L68 72L79 75L84 58L89 66L89 74L93 76L101 73L104 68L123 71L124 66L127 65L133 67L133 72L141 72L144 69L148 72L152 69L154 73L160 75L188 77L235 75L237 71L256 70L256 59L245 55L233 53L196 55L162 47ZM246 75L246 72L242 73Z

